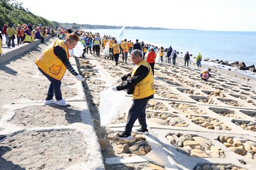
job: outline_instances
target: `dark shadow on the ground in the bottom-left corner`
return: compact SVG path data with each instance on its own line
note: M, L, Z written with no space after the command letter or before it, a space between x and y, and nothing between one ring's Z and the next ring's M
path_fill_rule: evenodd
M21 168L18 165L13 164L11 161L7 161L2 156L11 151L9 147L0 146L0 170L25 170L25 168Z

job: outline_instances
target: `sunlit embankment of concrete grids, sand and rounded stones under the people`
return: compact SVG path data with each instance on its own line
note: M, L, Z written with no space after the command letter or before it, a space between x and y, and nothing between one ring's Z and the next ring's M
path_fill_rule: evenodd
M114 61L95 54L71 57L87 80L77 82L66 71L61 91L70 106L46 106L49 82L34 60L55 39L0 65L0 134L8 136L0 143L0 169L253 170L256 166L256 79L214 66L198 69L194 62L184 67L181 55L175 66L164 58L163 64L155 64L156 94L146 109L150 134L132 133L131 140L118 140L115 134L124 130L126 116L100 127L99 93L134 67L131 59L124 64L120 55L114 66ZM211 68L208 81L199 77L204 68ZM131 100L130 95L123 97ZM136 128L138 122L133 131Z

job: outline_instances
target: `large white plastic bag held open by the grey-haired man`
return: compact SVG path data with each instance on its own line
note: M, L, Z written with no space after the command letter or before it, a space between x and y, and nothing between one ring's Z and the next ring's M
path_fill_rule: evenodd
M99 100L100 126L106 126L123 113L128 113L131 103L131 98L125 97L124 91L113 92L111 88L102 91Z

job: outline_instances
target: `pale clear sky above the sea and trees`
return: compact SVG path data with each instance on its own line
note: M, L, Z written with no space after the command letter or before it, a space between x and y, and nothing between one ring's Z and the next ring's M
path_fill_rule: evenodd
M32 13L58 22L256 31L256 0L20 1Z

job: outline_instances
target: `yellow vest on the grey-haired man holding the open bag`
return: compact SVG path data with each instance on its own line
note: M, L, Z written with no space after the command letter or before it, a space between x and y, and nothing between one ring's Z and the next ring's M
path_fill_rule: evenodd
M134 91L132 93L133 99L143 99L155 93L152 69L146 60L140 61L137 66L131 70L131 78L140 65L147 67L149 71L147 76L134 86Z

